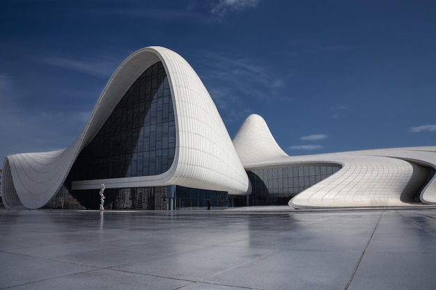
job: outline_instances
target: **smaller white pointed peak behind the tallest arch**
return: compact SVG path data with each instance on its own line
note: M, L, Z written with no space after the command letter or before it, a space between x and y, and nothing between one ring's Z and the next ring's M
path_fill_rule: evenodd
M244 120L233 138L233 145L244 167L288 157L272 136L265 120L257 114L251 114Z

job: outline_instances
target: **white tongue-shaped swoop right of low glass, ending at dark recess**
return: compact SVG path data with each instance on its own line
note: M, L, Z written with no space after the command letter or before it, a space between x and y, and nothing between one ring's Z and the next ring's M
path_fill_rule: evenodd
M318 160L326 160L318 157ZM332 158L341 170L290 200L305 207L389 207L416 205L416 193L428 170L416 163L383 156L341 154Z

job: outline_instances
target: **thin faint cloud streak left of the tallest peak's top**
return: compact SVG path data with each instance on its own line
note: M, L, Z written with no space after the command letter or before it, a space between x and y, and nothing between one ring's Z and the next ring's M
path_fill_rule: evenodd
M91 74L93 76L103 77L111 76L118 66L116 61L98 58L94 61L83 61L68 57L44 56L37 58L36 61L39 63L44 63L45 65L60 67L66 70L76 70Z

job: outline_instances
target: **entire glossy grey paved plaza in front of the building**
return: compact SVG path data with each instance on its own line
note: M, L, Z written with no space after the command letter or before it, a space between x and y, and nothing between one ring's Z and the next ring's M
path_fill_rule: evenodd
M7 211L0 289L435 289L436 209Z

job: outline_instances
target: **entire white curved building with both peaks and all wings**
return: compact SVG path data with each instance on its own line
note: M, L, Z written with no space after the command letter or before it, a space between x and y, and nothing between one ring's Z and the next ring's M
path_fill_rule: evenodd
M192 67L146 47L127 57L65 150L7 156L3 203L45 206L61 186L98 208L246 204L387 207L436 203L436 146L288 156L259 115L233 138ZM239 196L239 197L238 197ZM229 198L230 197L230 198Z

